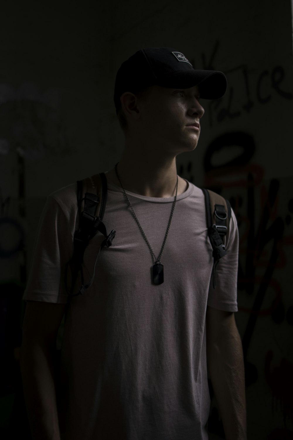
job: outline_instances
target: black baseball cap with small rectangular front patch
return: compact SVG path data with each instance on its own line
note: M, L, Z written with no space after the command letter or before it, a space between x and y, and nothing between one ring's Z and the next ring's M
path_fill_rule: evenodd
M219 99L227 89L227 79L218 70L196 70L182 52L174 48L145 48L124 61L117 74L114 90L116 113L124 92L159 85L168 88L199 87L200 98Z

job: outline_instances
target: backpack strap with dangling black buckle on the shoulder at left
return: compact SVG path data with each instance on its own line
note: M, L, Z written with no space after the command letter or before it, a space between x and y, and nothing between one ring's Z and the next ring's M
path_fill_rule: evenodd
M107 179L105 173L96 174L77 181L77 205L79 209L79 227L74 233L73 238L73 255L72 259L67 263L65 268L65 288L71 296L82 294L94 281L95 267L97 264L99 253L104 246L112 246L112 240L116 231L112 230L107 235L103 217L107 203ZM99 213L99 214L98 214ZM98 215L97 215L98 214ZM94 235L100 231L104 235L105 240L101 242L95 263L94 273L89 283L83 284L83 255L88 242ZM68 266L71 269L71 289L67 288L67 272ZM73 294L76 284L78 272L81 274L82 285L78 293Z

